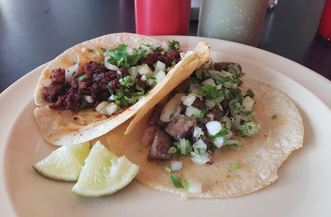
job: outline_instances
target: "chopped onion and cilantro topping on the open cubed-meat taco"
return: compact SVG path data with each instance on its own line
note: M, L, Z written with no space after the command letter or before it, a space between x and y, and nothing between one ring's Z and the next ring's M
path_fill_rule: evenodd
M238 64L228 65L225 70L218 71L213 63L207 61L196 69L195 76L188 79L182 93L176 94L165 105L160 119L170 122L181 112L189 117L187 121L195 118L199 122L209 118L204 125L206 131L199 126L192 127L192 138L196 139L190 141L181 138L174 142L168 151L170 154L176 154L176 157L190 155L195 164L202 165L210 162L209 151L222 146L233 146L241 150L239 139L233 136L254 136L260 132L260 124L254 122L254 93L250 89L241 93L238 88L240 78L244 75ZM202 101L200 103L204 103L205 107L201 104L197 107L197 100ZM211 142L210 150L206 142Z

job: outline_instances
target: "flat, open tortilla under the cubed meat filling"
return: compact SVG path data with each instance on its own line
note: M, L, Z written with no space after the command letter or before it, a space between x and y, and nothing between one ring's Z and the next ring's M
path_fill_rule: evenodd
M126 155L132 163L140 166L136 180L149 188L180 194L182 198L234 197L274 183L278 168L293 150L302 147L302 119L294 104L278 89L251 78L242 78L241 81L243 93L251 89L255 94L255 121L261 124L261 132L255 137L234 136L239 139L242 150L232 146L221 147L214 151L212 165L197 165L190 156L181 156L179 161L183 162L183 168L179 172L171 172L179 178L201 182L202 193L193 195L182 188L175 188L170 174L164 170L170 167L174 157L165 161L147 161L150 147L142 146L140 137L149 126L147 121L151 111L128 135L123 136L123 132L129 122L107 134L110 150L118 156ZM273 119L275 114L277 117ZM138 147L142 148L139 152ZM231 163L237 164L237 170L230 167Z

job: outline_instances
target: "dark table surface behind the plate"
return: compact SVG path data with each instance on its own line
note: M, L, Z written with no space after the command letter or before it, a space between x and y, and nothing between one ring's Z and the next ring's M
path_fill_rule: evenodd
M331 80L331 46L315 36L324 2L279 0L257 47ZM189 35L197 27L191 21ZM0 0L0 92L64 50L118 32L135 33L133 0Z

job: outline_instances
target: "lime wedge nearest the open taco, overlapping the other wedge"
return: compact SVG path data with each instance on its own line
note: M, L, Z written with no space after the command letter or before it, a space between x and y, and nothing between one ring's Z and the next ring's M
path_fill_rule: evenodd
M138 171L139 166L125 156L117 157L97 141L71 191L84 197L109 195L129 184Z

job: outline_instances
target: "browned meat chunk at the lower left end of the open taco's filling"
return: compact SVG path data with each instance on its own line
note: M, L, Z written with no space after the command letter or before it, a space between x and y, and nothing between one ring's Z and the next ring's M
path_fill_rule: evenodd
M171 137L162 130L158 130L155 133L152 148L147 154L147 160L158 159L166 160L171 157L168 152L173 144Z

